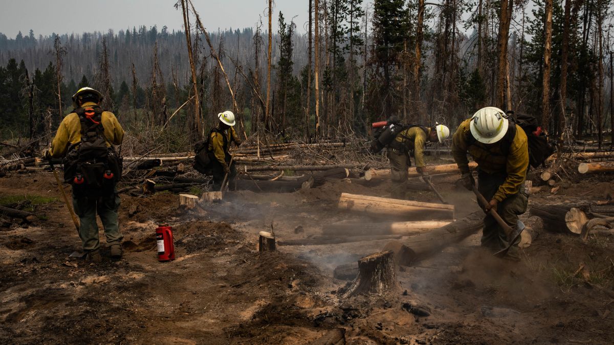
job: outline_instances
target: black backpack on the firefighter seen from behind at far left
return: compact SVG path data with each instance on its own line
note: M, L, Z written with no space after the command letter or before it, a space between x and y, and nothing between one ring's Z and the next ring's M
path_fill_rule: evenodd
M81 123L81 141L71 145L64 158L64 181L72 184L77 196L113 193L122 177L122 158L107 147L99 106L75 109Z

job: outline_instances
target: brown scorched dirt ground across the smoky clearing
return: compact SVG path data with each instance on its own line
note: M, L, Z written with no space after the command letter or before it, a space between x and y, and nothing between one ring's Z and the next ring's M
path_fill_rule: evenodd
M433 177L458 217L478 209L452 177ZM601 181L603 181L602 179ZM343 328L348 344L612 344L612 238L583 243L544 231L521 262L481 250L476 233L433 257L400 266L400 290L341 299L342 263L389 240L279 246L259 253L259 231L316 236L340 220L341 192L387 196L389 184L330 182L289 194L231 192L221 204L180 212L178 196L122 196L125 256L94 265L69 258L80 240L49 172L0 178L0 195L53 196L47 220L0 228L0 343L298 344ZM612 182L581 180L532 203L605 200ZM69 188L67 188L69 190ZM430 192L412 200L435 201ZM157 261L155 228L173 226L177 259ZM295 228L302 227L303 232ZM104 246L104 235L101 242ZM588 274L577 273L583 263ZM418 304L430 311L407 311Z

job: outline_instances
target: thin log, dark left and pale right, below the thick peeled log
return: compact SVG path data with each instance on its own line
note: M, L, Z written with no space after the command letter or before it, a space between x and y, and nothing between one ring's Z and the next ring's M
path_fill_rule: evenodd
M348 221L325 224L324 235L410 235L448 225L448 220L418 222L352 223Z

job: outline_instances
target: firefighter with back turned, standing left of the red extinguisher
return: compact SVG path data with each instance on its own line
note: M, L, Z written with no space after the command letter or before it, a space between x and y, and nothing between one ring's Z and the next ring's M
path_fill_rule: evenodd
M80 220L79 237L85 258L92 262L102 260L96 212L103 223L111 257L119 260L123 254L117 215L120 198L115 189L121 161L114 155L112 145L122 144L124 131L112 112L99 107L102 100L103 95L93 88L80 88L72 96L74 110L64 117L51 148L43 153L44 159L65 157L64 180L72 184L72 204ZM98 164L90 164L91 161Z

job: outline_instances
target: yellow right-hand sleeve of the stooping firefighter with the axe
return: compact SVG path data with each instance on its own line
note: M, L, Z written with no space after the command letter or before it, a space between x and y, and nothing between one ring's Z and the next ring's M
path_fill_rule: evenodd
M510 195L515 195L523 185L527 177L529 168L529 143L527 134L516 125L516 136L511 143L510 153L507 157L507 178L493 198L499 202L505 200Z

